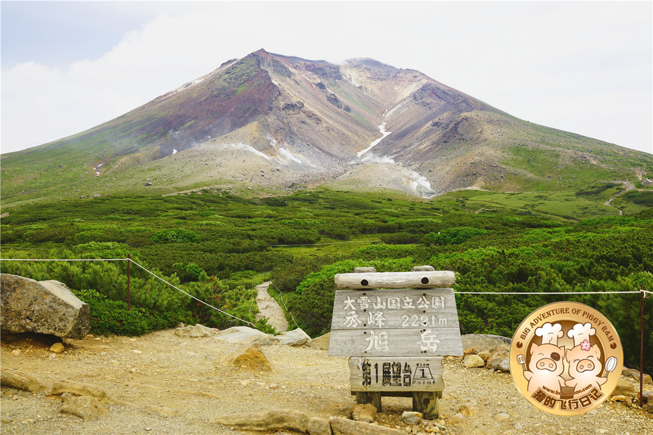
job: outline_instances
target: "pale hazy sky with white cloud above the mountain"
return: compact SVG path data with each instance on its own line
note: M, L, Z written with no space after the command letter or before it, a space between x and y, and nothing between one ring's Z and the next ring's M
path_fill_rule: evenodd
M535 123L653 153L653 3L2 1L2 152L228 59L372 57Z

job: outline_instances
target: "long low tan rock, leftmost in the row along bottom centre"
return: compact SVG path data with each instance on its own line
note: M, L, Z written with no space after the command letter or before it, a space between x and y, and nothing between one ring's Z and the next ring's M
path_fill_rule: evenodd
M266 413L232 414L215 417L210 423L238 426L245 430L308 430L308 417L300 411L271 410Z

